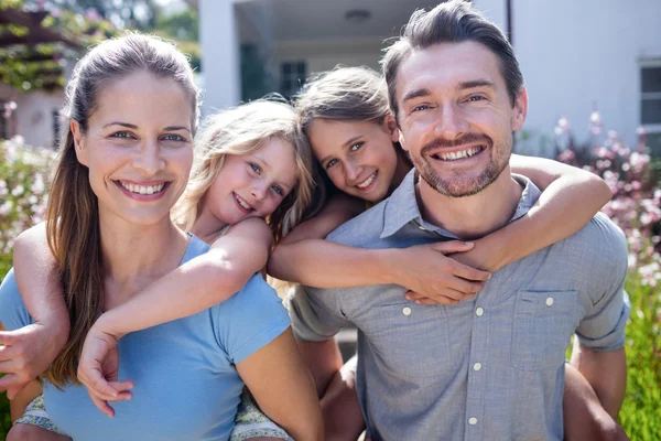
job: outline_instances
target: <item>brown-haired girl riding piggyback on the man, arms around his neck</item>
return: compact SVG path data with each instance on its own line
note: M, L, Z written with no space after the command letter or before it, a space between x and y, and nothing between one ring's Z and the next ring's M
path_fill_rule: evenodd
M371 250L326 241L324 237L337 226L389 196L412 164L399 147L384 83L372 71L349 67L323 74L307 83L296 108L326 178L329 202L274 249L268 268L279 279L319 288L395 283L410 290L407 297L412 301L453 304L481 289L488 273L475 268L492 272L571 236L610 197L608 186L592 173L513 155L512 170L530 178L543 194L521 219L473 244ZM328 345L333 343L300 343L304 357L313 361L327 438L355 439L362 416L351 390L351 367L336 374L339 356L325 366L314 363L327 359L319 352L333 351ZM567 378L576 375L567 367ZM566 390L567 399L585 396L585 381L567 383L573 385ZM585 423L578 413L565 420L570 437Z

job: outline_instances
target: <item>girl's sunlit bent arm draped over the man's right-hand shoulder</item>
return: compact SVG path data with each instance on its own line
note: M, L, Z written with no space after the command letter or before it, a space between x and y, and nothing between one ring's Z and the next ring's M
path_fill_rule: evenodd
M513 154L512 172L543 191L520 219L479 240L459 261L487 271L519 260L583 228L610 201L610 189L596 174L557 161Z

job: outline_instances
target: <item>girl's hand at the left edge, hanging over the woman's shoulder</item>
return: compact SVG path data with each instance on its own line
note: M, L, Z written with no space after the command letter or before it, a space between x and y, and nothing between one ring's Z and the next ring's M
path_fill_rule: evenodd
M0 391L13 399L51 366L68 338L68 326L34 323L15 331L0 331Z

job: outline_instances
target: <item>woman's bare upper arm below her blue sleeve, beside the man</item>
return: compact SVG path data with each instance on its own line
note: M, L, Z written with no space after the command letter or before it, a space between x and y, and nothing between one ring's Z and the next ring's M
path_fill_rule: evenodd
M324 439L314 381L291 327L237 364L261 410L296 441Z

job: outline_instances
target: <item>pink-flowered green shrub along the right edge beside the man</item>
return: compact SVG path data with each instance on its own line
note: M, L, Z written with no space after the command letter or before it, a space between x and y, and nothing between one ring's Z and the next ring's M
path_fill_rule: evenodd
M661 440L661 169L647 153L642 130L631 150L617 133L603 132L598 112L592 115L589 125L593 140L578 146L566 119L559 121L557 159L600 175L613 192L603 211L625 232L629 244L626 289L631 301L627 396L620 422L631 440Z

